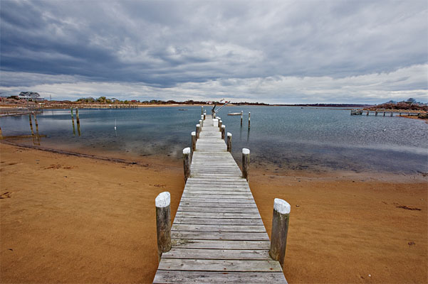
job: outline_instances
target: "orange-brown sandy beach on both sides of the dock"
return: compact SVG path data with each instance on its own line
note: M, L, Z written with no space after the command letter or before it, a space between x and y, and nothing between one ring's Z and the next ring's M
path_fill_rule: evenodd
M182 167L0 143L1 283L150 283L155 197L174 216ZM300 175L301 176L301 175ZM289 283L427 283L427 178L250 174L268 234L273 198L291 204ZM420 210L418 210L420 209Z

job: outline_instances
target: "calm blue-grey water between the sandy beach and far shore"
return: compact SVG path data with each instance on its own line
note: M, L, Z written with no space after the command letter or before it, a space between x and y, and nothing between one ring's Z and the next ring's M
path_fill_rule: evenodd
M187 111L178 110L182 108ZM210 113L211 108L205 109ZM241 110L242 128L240 116L226 115ZM127 153L135 158L169 155L179 159L182 148L190 146L190 133L200 114L200 107L80 109L81 136L77 127L73 134L69 110L44 111L37 119L39 133L47 136L41 138L41 146L84 153L101 151L118 158ZM226 107L218 116L233 135L236 160L240 160L241 148L249 148L251 163L261 168L428 171L428 124L422 120L350 116L350 110L310 107ZM28 116L1 118L0 126L4 136L31 133Z

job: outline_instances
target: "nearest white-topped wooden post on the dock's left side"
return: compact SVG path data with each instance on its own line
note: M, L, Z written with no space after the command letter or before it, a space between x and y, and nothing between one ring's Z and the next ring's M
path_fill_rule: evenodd
M161 192L155 199L158 261L162 253L171 250L171 195Z

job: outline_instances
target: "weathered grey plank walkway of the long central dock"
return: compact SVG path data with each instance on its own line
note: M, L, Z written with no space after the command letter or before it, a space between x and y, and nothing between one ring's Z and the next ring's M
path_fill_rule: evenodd
M212 116L204 120L153 283L286 283L249 184Z

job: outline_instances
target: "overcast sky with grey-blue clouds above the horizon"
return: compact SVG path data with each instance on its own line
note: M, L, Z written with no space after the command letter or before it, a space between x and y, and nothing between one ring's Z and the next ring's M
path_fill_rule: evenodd
M0 0L1 95L428 102L428 4Z

